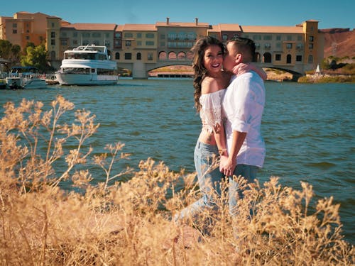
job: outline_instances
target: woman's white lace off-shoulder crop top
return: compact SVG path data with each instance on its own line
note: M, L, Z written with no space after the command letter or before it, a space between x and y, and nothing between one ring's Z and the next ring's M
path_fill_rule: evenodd
M225 93L226 89L219 89L200 96L202 130L212 132L214 126L222 124L222 101Z

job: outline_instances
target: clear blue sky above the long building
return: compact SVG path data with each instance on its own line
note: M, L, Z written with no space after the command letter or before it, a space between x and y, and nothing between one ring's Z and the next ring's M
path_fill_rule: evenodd
M70 23L138 23L165 21L200 22L212 25L295 26L307 19L320 21L319 28L354 28L355 1L351 0L16 0L6 1L0 16L18 11L59 16Z

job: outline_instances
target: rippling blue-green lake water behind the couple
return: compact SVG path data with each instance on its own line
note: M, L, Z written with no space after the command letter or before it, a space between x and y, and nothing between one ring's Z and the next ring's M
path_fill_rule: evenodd
M152 157L170 170L195 171L193 150L201 126L192 79L121 79L114 86L1 90L0 115L6 101L18 105L26 98L50 104L58 94L72 101L75 109L97 116L101 126L89 140L94 153L120 141L126 144L123 152L132 154L131 160L119 162L122 167L136 168L140 160ZM354 84L266 82L262 125L266 161L258 172L261 182L278 176L281 184L300 189L300 181L305 181L317 197L334 196L351 243L355 243L354 113ZM93 176L104 178L99 171Z

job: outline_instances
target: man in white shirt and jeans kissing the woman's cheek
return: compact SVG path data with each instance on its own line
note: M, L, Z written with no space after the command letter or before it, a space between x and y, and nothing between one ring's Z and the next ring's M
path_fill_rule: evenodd
M236 38L226 44L224 69L233 70L240 63L253 61L255 43L248 38ZM263 166L265 143L261 137L261 117L265 104L263 79L256 72L246 72L233 77L226 89L222 109L226 121L228 157L221 157L220 170L229 176L229 207L235 214L236 200L243 194L232 176L241 175L253 182L256 172ZM238 192L238 194L236 193ZM237 197L238 195L238 197Z

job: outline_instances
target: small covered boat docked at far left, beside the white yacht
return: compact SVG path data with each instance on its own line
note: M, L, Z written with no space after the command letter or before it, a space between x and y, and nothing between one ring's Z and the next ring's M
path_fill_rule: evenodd
M6 77L6 89L42 89L47 87L45 77L37 67L11 67Z

